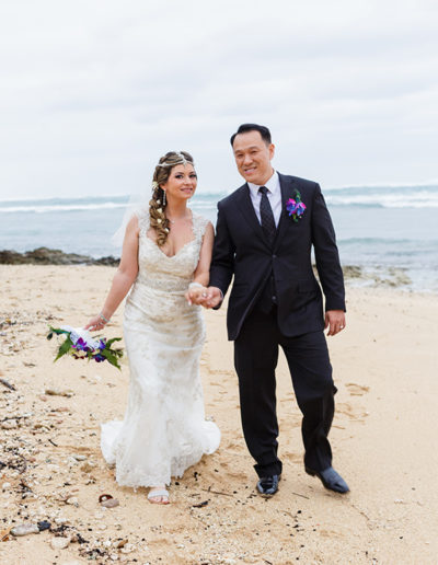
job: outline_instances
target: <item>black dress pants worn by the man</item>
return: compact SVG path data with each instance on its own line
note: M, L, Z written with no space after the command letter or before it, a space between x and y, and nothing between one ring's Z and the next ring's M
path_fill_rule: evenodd
M304 464L323 471L332 464L327 435L336 392L325 335L322 331L296 337L281 335L276 307L268 313L254 310L234 342L242 428L247 449L256 461L254 469L258 476L281 473L275 394L278 346L286 355L302 413Z

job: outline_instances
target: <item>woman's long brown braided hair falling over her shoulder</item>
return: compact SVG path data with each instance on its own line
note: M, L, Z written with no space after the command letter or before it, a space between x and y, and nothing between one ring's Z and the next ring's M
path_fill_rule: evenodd
M170 221L165 216L165 208L168 203L165 201L164 191L160 188L161 184L165 184L172 169L178 164L194 164L193 157L186 151L169 151L163 155L152 177L152 198L149 200L149 217L151 228L157 233L157 244L162 247L168 240L170 232Z

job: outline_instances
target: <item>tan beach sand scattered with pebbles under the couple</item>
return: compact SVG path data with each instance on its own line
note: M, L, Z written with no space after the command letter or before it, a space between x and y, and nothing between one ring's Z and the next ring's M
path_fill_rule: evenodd
M328 338L338 388L331 441L334 466L351 488L345 496L303 471L300 414L283 357L283 480L270 500L256 495L226 309L207 312L201 376L221 446L172 484L171 505L157 506L146 489L117 486L100 452L100 423L125 411L126 362L122 372L71 358L54 364L55 343L45 338L48 324L83 325L99 312L113 274L0 266L0 377L16 388L0 384L1 535L26 521L51 523L51 531L5 538L0 563L438 563L436 296L348 289L347 327ZM120 308L107 337L122 335L122 316ZM102 508L101 494L119 506ZM56 529L72 538L66 549L53 549Z

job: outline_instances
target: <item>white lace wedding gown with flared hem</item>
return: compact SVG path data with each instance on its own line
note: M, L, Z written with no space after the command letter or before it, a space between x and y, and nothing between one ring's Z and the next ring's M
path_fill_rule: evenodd
M127 298L124 336L130 384L123 422L102 425L101 448L123 486L170 484L219 446L205 420L199 358L201 307L184 298L199 260L208 220L193 214L194 239L169 257L147 235L139 216L139 273Z

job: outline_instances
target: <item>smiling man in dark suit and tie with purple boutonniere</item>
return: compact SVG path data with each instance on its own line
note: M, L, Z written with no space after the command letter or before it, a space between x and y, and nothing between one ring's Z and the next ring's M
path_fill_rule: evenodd
M257 489L273 496L281 476L275 395L281 346L303 415L306 472L326 488L346 493L347 484L332 468L327 439L336 389L324 328L336 335L345 327L344 280L332 220L316 183L273 169L275 147L267 127L243 124L231 146L246 182L218 204L210 287L199 302L219 308L234 277L228 335L234 341L242 427L256 462Z

